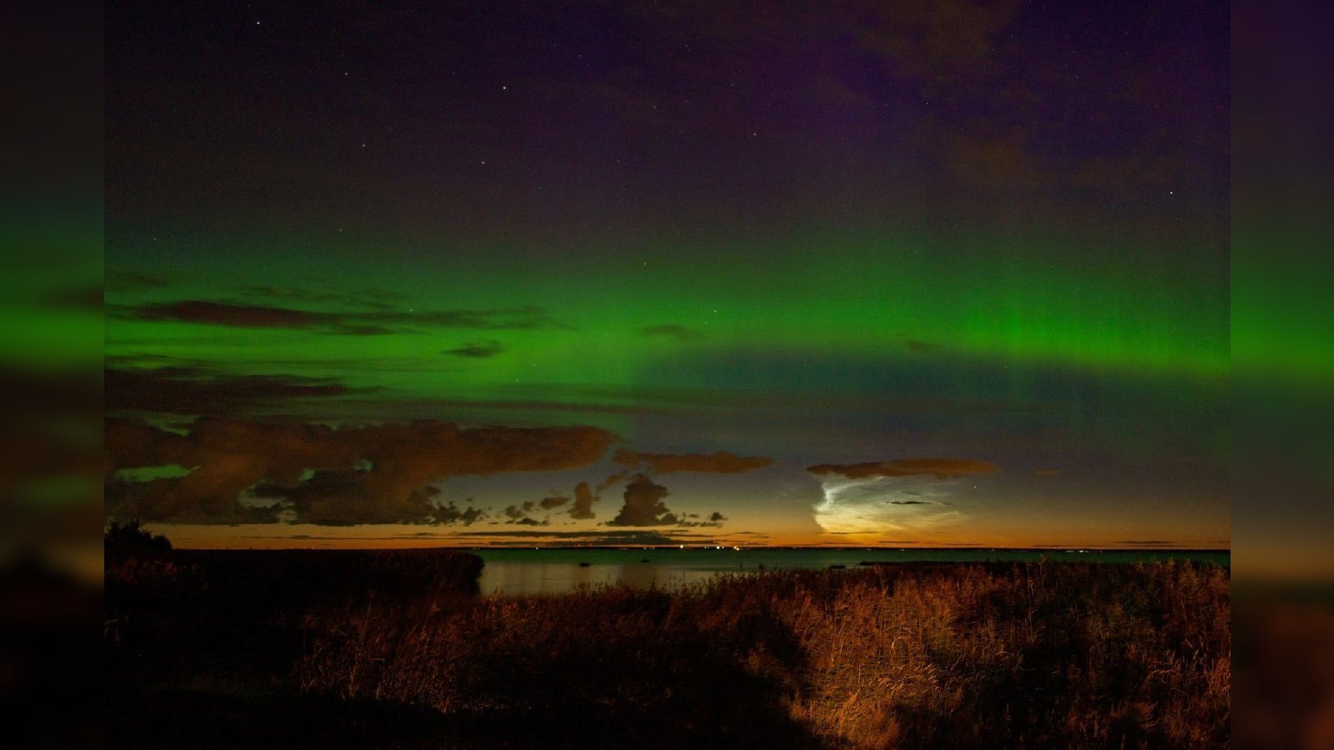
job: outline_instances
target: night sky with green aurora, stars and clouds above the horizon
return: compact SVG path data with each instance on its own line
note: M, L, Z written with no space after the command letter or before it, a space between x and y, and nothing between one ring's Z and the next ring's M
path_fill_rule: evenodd
M1229 8L111 3L107 513L1230 545Z

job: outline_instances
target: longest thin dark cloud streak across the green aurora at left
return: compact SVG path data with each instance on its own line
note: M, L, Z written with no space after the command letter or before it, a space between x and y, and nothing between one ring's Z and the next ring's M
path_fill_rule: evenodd
M490 310L313 312L268 305L181 300L133 308L113 308L108 312L129 320L193 322L228 328L289 328L352 336L398 333L418 328L528 330L556 325L546 310L534 306Z

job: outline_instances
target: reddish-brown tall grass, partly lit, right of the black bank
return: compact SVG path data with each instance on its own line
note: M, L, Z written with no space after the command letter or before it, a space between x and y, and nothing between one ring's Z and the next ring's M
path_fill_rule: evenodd
M1227 570L1193 563L787 571L308 611L293 679L551 743L1199 747L1229 625Z

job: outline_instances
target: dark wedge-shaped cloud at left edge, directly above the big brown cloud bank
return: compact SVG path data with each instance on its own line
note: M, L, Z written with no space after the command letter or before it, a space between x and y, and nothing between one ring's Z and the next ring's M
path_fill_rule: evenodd
M103 382L108 412L191 416L233 414L300 398L352 393L346 385L327 378L228 376L185 366L107 369ZM362 393L370 390L360 389Z

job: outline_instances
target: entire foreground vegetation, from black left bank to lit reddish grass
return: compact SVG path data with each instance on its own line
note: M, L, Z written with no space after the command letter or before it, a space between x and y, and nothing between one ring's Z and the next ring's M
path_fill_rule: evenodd
M1229 571L963 563L475 594L446 552L108 553L107 743L1207 747Z

